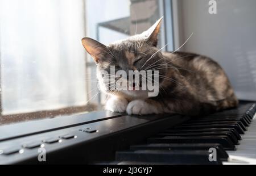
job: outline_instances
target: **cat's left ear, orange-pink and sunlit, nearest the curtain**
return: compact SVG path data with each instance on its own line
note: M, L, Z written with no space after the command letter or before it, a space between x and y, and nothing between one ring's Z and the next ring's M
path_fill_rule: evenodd
M101 44L100 42L90 39L89 37L85 37L82 39L82 45L85 50L92 56L93 60L98 64L104 57L106 53L106 46Z

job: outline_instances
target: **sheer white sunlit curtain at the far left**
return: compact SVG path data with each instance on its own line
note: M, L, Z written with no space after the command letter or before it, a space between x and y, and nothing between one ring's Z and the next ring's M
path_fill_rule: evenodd
M2 114L86 103L84 0L0 0Z

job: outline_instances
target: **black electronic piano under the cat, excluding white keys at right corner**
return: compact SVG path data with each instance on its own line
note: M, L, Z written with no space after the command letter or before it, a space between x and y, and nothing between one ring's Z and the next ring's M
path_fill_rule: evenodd
M3 125L0 164L222 164L255 112L255 103L241 102L197 118L99 111ZM38 160L42 148L46 161Z

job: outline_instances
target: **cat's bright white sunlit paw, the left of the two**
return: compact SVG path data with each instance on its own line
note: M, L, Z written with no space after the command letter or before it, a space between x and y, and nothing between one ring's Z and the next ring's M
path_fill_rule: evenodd
M106 102L106 110L123 113L126 110L128 101L125 98L112 97Z

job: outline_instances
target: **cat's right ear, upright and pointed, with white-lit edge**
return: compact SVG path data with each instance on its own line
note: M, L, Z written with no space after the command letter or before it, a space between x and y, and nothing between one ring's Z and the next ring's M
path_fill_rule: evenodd
M145 31L148 41L154 47L156 47L156 45L158 45L158 34L160 32L162 20L163 20L163 17L160 18L159 20L157 20L157 22L155 22L155 24L153 26L151 26L147 31Z

